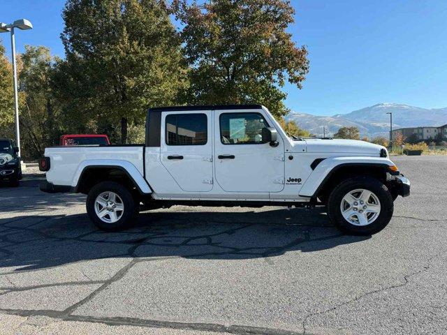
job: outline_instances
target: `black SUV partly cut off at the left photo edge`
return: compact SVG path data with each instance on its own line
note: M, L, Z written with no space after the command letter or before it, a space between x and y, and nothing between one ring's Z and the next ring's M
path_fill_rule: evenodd
M0 138L0 182L8 180L11 186L19 186L22 179L20 157L17 156L19 148L13 147L13 141Z

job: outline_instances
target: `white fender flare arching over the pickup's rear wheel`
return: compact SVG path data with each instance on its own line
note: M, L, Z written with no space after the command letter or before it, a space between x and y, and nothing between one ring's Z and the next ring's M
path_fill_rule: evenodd
M129 176L129 178L133 180L141 193L152 193L152 189L150 188L149 184L147 184L147 181L142 176L140 171L138 171L135 165L133 165L129 161L122 161L119 159L87 159L86 161L82 161L80 165L78 165L78 169L75 172L71 184L71 187L75 192L78 191L78 184L82 177L82 173L84 173L89 168L115 168L122 170Z

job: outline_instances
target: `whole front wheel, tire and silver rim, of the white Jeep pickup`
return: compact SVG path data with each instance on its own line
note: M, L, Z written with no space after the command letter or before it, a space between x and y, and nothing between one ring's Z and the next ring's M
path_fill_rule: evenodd
M348 234L379 232L390 222L393 209L390 191L372 177L346 179L334 188L328 199L330 220Z

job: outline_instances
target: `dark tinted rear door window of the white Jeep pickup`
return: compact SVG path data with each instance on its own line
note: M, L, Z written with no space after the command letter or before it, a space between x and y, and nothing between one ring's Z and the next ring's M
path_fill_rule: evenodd
M206 114L169 114L166 116L166 144L207 144Z

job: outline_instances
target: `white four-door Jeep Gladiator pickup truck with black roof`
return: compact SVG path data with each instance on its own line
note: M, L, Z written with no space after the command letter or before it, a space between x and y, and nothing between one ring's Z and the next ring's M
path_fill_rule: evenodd
M410 192L386 148L356 140L288 136L262 105L157 107L141 145L49 147L45 192L87 194L102 230L140 209L325 205L332 223L372 234Z

